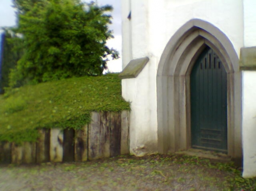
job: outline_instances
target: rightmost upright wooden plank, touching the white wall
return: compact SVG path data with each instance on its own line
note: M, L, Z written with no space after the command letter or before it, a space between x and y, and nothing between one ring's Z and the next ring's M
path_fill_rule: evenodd
M130 153L129 114L129 111L122 111L121 113L121 155Z

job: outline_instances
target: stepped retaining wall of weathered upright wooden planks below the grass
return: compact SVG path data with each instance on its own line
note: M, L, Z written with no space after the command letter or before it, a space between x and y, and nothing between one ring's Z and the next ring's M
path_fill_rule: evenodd
M1 164L72 162L129 153L129 111L92 112L80 130L40 129L35 143L0 142Z

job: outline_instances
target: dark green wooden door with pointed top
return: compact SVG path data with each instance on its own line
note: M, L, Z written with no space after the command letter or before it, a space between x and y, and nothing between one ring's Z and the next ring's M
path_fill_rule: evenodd
M193 66L190 83L192 147L226 152L226 71L219 57L209 47Z

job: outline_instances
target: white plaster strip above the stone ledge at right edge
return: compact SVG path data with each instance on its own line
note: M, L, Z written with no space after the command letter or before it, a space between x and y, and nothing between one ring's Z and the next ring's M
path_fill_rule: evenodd
M256 46L256 0L244 0L245 47Z

